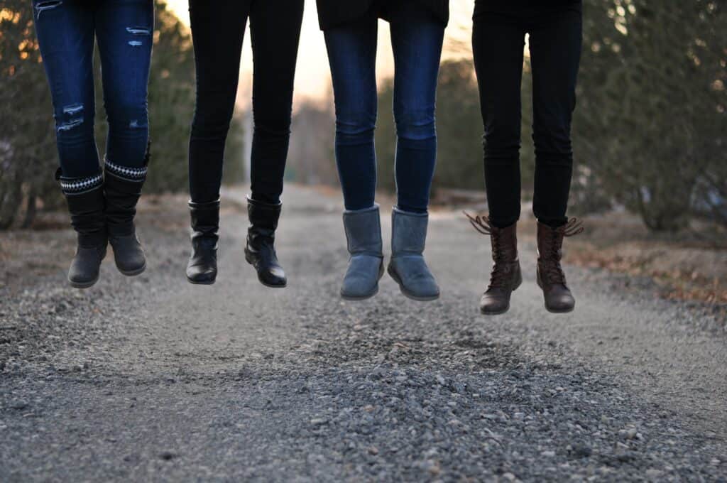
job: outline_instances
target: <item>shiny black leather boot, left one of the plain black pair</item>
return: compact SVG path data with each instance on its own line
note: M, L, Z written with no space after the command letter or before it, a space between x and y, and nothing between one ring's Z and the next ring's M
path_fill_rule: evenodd
M217 278L217 231L220 229L220 200L189 202L192 219L192 255L187 263L190 284L212 285Z

